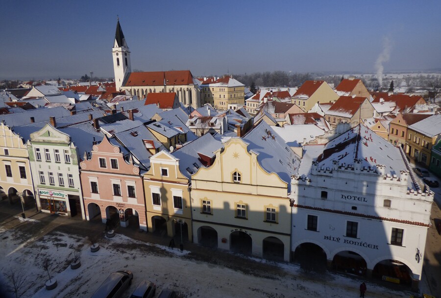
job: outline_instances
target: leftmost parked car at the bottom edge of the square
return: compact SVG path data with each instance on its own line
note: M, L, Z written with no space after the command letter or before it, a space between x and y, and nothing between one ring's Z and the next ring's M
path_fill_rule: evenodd
M132 284L133 273L128 270L121 270L110 273L102 285L95 291L92 298L119 298L123 292Z

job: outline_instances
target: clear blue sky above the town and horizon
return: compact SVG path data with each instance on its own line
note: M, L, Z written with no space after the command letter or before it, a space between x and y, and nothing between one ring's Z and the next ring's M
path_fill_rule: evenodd
M385 44L385 72L441 68L440 0L15 0L0 79L113 77L117 15L132 70L375 72Z

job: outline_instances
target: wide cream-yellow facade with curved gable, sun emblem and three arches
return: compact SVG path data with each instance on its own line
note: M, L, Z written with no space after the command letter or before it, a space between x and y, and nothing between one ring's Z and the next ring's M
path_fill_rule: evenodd
M269 128L265 123L259 126ZM278 174L265 171L258 154L247 148L243 139L231 138L224 149L215 152L211 167L192 175L193 240L289 261L287 183Z

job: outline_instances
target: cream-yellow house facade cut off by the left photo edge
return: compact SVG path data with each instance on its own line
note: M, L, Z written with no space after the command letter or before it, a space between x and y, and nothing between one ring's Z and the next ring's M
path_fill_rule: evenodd
M27 146L3 123L0 123L0 195L0 200L7 198L11 203L19 199L25 205L35 202Z

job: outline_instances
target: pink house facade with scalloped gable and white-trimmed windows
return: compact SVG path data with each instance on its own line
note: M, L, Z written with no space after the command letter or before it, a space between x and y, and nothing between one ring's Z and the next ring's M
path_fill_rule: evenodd
M120 147L104 136L80 168L86 220L119 221L124 227L138 222L147 231L143 179L133 161L124 159Z

